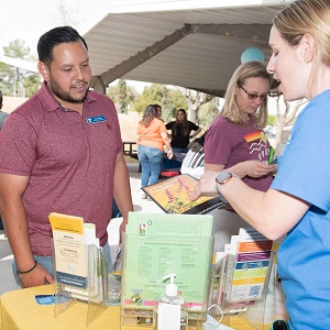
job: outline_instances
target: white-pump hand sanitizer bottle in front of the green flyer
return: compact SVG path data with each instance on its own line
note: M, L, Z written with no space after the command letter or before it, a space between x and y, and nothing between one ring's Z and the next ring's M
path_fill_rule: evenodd
M156 330L187 329L187 312L183 310L184 299L177 294L175 276L175 274L169 274L163 277L163 280L169 278L169 284L166 285L165 294L154 310L154 329Z

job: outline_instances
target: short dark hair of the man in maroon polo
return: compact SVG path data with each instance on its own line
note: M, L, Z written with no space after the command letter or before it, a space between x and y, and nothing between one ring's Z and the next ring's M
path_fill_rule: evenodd
M88 51L85 38L74 28L58 26L50 30L37 42L38 61L48 66L53 61L53 50L55 46L64 43L76 43L79 40Z

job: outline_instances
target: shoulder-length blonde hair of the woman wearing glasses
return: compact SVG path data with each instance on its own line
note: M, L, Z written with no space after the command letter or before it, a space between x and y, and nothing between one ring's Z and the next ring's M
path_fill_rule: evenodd
M257 61L251 61L241 64L233 73L224 95L224 105L221 110L223 118L238 127L246 127L248 121L244 113L240 111L240 108L235 98L235 90L238 85L243 86L248 78L264 78L272 85L272 76L267 73L265 65ZM258 109L250 116L254 128L264 129L268 121L268 107L267 98L262 102Z

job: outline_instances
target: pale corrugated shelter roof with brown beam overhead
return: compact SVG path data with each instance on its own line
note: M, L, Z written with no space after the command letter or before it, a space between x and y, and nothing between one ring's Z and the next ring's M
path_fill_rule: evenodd
M101 92L118 78L223 96L249 47L271 56L272 19L292 1L121 0L82 32ZM229 4L230 3L230 4Z

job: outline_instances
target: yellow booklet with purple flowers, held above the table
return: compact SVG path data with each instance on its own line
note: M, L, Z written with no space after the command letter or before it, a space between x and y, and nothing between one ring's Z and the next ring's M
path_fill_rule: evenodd
M220 196L200 196L197 200L190 200L189 194L197 184L195 177L182 174L142 190L166 213L205 215L229 205Z

